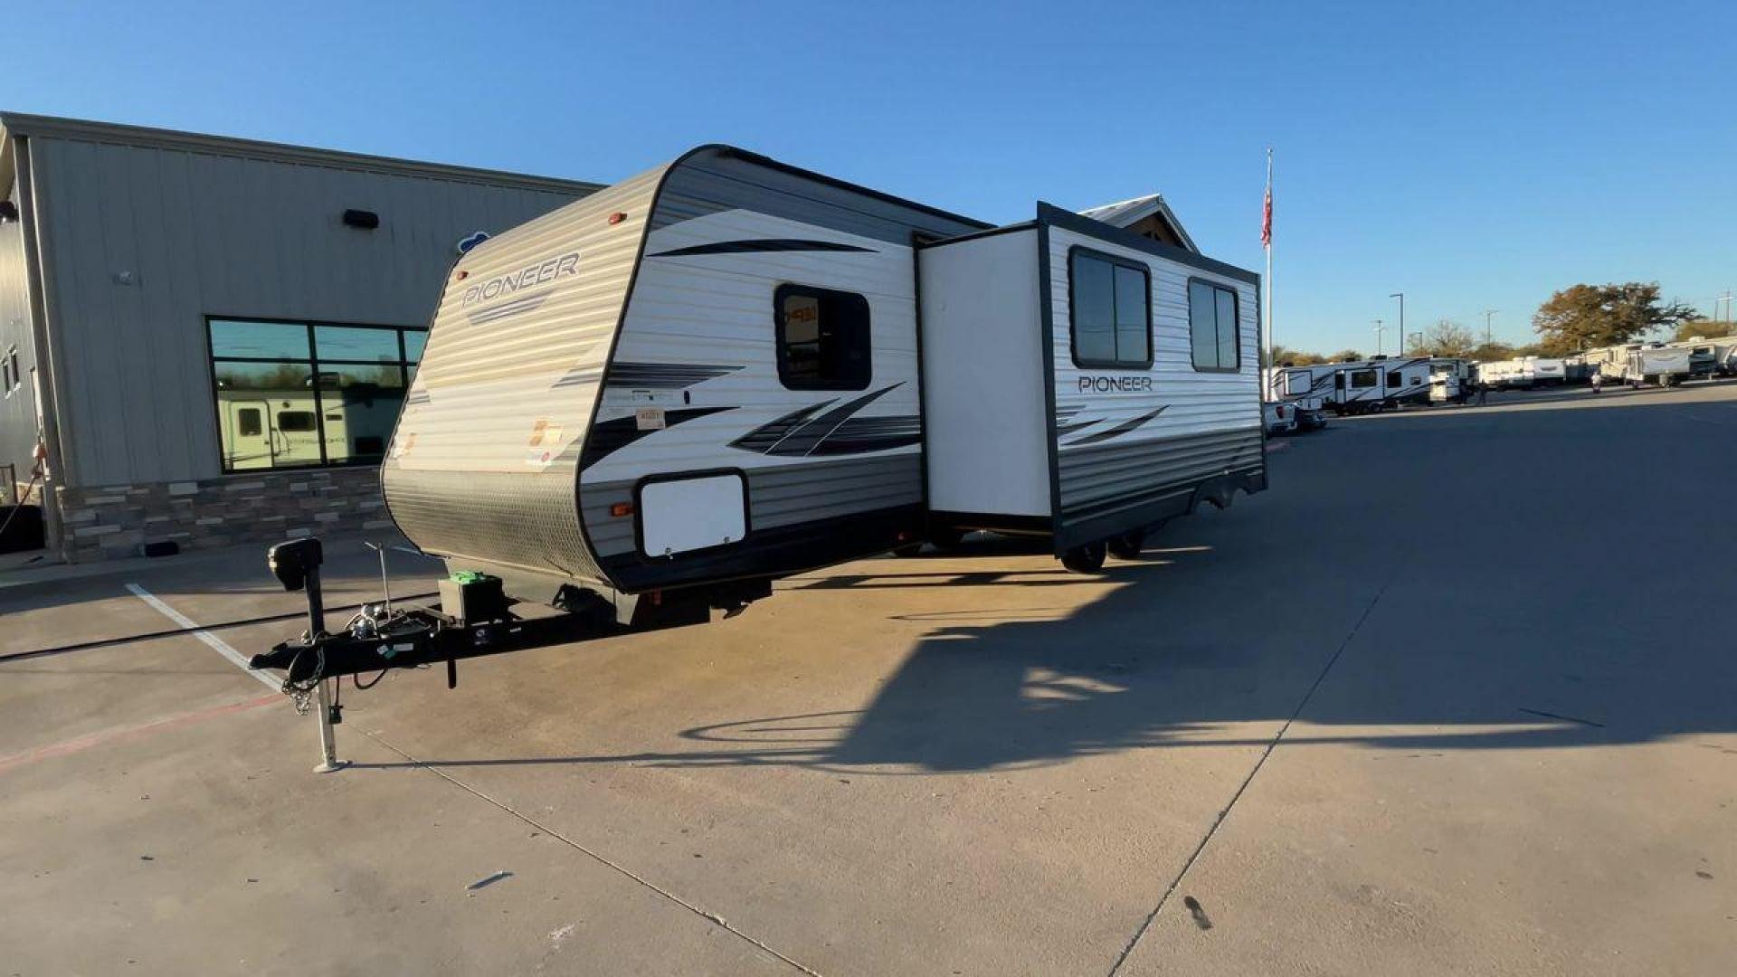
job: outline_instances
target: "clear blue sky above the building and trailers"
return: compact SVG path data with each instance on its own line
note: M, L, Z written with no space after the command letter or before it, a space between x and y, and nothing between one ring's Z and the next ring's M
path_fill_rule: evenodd
M1431 7L26 3L0 106L603 183L723 141L990 221L1162 191L1254 269L1271 144L1318 351L1397 290L1525 341L1575 282L1737 287L1734 5Z

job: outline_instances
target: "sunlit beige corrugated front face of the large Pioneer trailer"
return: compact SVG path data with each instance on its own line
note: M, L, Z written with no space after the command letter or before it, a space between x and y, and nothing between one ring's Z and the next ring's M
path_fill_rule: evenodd
M641 174L514 228L448 276L384 466L387 508L424 549L603 579L578 525L578 461L660 177ZM611 224L615 212L627 217ZM467 289L571 252L570 278L464 302ZM547 440L533 445L538 421ZM554 454L547 466L540 450Z

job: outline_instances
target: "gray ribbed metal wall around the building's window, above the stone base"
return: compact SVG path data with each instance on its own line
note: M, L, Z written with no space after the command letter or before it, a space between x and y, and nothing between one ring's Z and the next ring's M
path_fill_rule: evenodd
M59 136L28 151L69 485L221 475L207 316L426 325L460 236L580 196Z

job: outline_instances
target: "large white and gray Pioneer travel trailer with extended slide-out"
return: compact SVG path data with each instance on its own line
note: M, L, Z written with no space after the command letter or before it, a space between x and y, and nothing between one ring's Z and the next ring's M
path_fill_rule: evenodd
M622 615L973 528L1093 570L1266 487L1258 282L705 146L459 259L387 508L453 570Z

